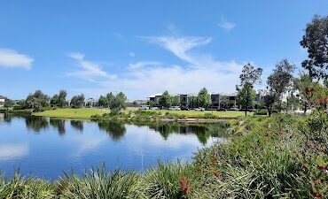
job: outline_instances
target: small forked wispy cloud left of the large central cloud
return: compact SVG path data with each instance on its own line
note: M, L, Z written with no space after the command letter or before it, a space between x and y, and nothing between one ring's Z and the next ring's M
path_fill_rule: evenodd
M86 61L84 55L79 52L69 54L69 57L74 58L77 63L82 67L80 71L66 73L67 76L80 78L83 80L96 81L98 79L115 79L115 75L110 75L102 70L100 65Z

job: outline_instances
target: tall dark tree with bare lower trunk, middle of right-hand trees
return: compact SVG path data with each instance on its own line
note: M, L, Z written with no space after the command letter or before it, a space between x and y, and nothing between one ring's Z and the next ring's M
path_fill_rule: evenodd
M269 89L274 92L281 111L281 97L285 94L288 88L291 88L293 83L293 71L295 65L290 64L287 59L283 59L277 63L273 73L269 75L267 83Z

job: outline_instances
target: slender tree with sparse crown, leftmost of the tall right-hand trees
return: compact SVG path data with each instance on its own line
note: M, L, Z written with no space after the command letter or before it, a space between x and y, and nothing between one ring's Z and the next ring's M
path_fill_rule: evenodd
M239 76L240 85L236 86L238 90L237 101L245 107L245 116L247 116L248 107L254 101L254 84L262 83L262 68L254 68L253 65L244 65Z

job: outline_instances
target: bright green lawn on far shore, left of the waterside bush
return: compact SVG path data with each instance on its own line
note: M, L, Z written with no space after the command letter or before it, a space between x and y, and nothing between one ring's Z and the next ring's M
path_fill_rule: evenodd
M66 118L66 119L90 119L92 115L103 115L108 113L108 110L100 109L56 109L51 111L37 112L35 116L45 116L53 118Z

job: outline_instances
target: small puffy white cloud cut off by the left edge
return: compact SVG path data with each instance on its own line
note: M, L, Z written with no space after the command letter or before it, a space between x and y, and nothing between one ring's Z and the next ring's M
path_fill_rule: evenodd
M7 68L21 67L31 69L34 62L32 57L21 54L16 50L0 49L0 66Z

